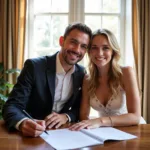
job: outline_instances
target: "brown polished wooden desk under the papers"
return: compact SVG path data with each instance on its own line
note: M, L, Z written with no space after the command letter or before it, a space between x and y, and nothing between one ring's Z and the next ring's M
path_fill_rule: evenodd
M134 134L138 138L127 141L107 141L104 145L78 150L147 150L150 148L150 124L118 127L118 129ZM0 150L53 150L53 148L40 137L23 137L17 131L8 133L4 122L0 120Z

